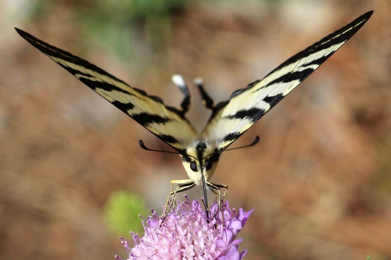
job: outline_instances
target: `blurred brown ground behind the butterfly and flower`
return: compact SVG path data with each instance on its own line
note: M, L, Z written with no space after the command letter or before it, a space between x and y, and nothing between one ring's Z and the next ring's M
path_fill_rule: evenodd
M209 112L193 78L225 100L371 9L351 40L233 145L259 135L257 146L222 155L213 181L229 185L231 207L256 207L241 233L246 259L391 259L389 1L188 1L131 26L121 1L104 2L0 1L0 259L124 257L103 218L109 195L130 190L160 212L169 180L185 178L177 156L137 141L165 144L13 27L171 105L181 101L171 75L181 73L200 129Z

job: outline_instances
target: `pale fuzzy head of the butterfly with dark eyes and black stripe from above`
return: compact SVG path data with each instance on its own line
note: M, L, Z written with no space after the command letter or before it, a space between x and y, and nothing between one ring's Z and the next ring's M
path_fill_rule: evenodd
M220 153L205 141L195 141L182 155L183 167L190 179L199 185L202 175L205 180L216 170Z

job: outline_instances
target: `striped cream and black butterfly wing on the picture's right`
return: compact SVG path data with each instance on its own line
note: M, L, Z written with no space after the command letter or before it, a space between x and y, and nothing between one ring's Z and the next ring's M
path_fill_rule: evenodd
M218 103L212 108L203 136L216 141L217 150L222 152L349 40L372 12L289 58L262 80L235 91L229 100Z

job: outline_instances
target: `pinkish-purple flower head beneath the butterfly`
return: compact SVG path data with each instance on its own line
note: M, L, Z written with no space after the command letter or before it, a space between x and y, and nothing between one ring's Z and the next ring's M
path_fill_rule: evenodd
M241 239L236 239L244 223L253 212L231 210L226 201L223 207L223 221L215 202L210 208L212 220L208 223L203 207L196 200L190 203L178 202L176 211L171 211L159 226L161 219L152 210L152 216L143 220L144 237L131 232L133 241L121 238L127 250L128 260L139 259L205 259L240 260L246 250L238 252ZM116 256L118 260L120 258Z

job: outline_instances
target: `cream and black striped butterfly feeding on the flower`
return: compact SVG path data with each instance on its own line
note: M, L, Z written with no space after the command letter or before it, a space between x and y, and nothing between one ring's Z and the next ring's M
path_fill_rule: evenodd
M190 106L190 93L181 76L173 76L174 84L179 87L184 96L180 108L175 108L164 104L163 100L156 96L148 95L144 90L131 87L87 60L54 47L20 29L15 29L23 39L44 55L171 146L176 151L172 153L180 155L189 179L171 181L172 191L166 200L163 216L174 207L177 193L201 184L205 212L209 218L206 190L216 195L221 211L221 201L228 189L227 185L210 181L221 153L333 55L365 24L372 13L373 11L369 11L363 14L285 60L263 79L255 80L246 87L234 91L228 100L215 104L205 91L202 80L195 80L203 105L212 112L200 133L195 131L185 116ZM257 137L247 146L257 143L258 140ZM144 149L153 150L147 148L141 140L139 145ZM177 185L175 189L174 184ZM222 195L223 188L225 192Z

